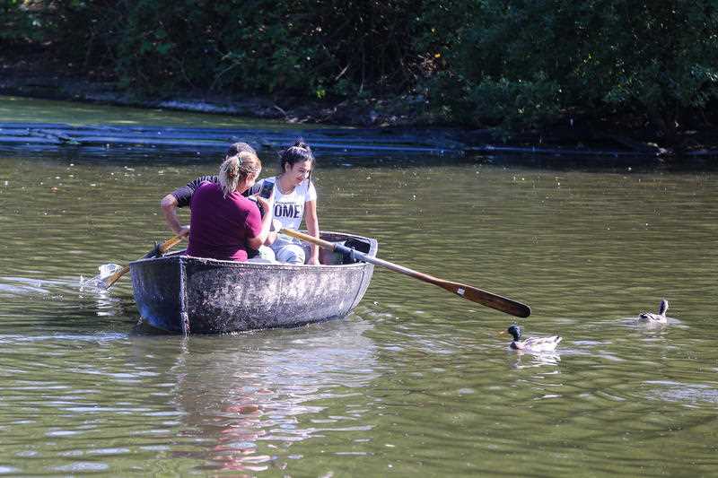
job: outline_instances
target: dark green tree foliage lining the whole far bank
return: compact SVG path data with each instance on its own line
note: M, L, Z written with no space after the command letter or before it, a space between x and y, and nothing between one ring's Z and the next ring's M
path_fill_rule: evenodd
M49 45L152 94L423 92L511 129L629 110L666 135L718 97L715 0L0 0L0 46Z

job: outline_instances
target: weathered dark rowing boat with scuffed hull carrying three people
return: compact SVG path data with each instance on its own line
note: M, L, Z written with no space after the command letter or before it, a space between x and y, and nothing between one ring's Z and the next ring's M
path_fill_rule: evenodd
M376 256L375 239L322 232L321 239ZM302 326L345 317L372 280L373 265L326 253L322 265L234 262L185 251L130 263L141 320L181 334Z

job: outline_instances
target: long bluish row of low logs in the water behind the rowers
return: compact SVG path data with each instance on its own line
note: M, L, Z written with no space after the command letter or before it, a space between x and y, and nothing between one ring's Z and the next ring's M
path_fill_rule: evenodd
M638 147L617 141L625 149L511 146L467 142L451 130L397 130L372 128L250 129L181 126L72 126L55 123L0 123L0 146L14 150L42 146L44 149L74 148L162 148L163 151L222 152L230 143L246 142L255 149L278 150L297 137L322 152L348 156L463 156L465 154L512 154L536 156L595 156L656 158L661 149ZM485 139L486 141L486 139ZM714 151L691 155L718 155Z

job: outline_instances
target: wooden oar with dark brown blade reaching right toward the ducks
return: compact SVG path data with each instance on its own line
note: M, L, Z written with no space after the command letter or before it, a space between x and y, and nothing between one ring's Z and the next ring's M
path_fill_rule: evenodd
M486 307L490 307L491 309L501 310L502 312L505 312L506 314L512 316L529 317L531 313L530 307L526 304L522 304L521 302L517 302L516 300L507 299L505 297L496 295L488 291L482 291L481 289L477 289L476 287L472 287L470 285L462 284L459 282L444 281L443 279L439 279L438 277L434 277L433 275L423 274L413 269L409 269L408 267L404 267L403 265L393 264L378 257L367 256L366 254L363 254L356 249L347 248L346 246L342 246L341 244L334 244L333 242L328 242L327 240L317 239L313 236L309 236L296 230L283 228L279 232L282 234L286 234L287 236L292 236L296 239L301 239L305 242L311 242L312 244L316 244L320 248L341 252L342 254L348 254L362 262L368 262L373 265L381 265L382 267L386 267L387 269L390 269L394 272L398 272L399 274L405 274L410 277L414 277L419 281L433 283L433 285L438 285L442 289L453 292L460 297L463 297L464 299L471 300L472 302L477 302L479 304L485 305Z

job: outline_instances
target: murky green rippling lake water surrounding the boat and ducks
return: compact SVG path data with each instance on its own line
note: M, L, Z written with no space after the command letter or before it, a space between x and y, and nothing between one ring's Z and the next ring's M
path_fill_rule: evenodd
M715 473L715 169L318 156L321 229L530 304L558 350L379 268L341 320L133 332L128 278L80 277L169 238L160 198L216 159L0 153L0 474Z

